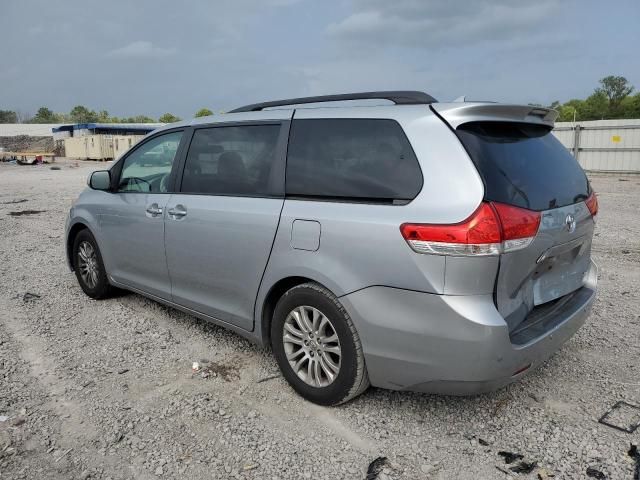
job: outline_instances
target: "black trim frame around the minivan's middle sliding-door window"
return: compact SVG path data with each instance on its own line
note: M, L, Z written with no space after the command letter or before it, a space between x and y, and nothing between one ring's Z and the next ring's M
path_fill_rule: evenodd
M191 142L193 141L193 136L196 130L201 129L211 129L211 128L224 128L224 127L253 127L253 126L266 126L266 125L279 125L280 132L278 133L278 140L276 141L275 148L275 160L273 164L274 171L279 171L278 173L273 173L271 175L272 180L270 180L270 190L272 193L270 194L222 194L222 193L200 193L200 192L183 192L182 191L182 180L184 176L184 167L187 161L187 155L189 153L189 149L191 148ZM286 167L286 157L287 157L287 147L289 143L289 130L291 128L291 120L244 120L237 122L217 122L217 123L205 123L192 125L187 128L185 132L185 147L181 152L182 155L180 157L179 165L177 165L175 185L174 185L174 193L179 195L199 195L199 196L207 196L207 197L243 197L243 198L284 198L284 187L285 187L285 167Z

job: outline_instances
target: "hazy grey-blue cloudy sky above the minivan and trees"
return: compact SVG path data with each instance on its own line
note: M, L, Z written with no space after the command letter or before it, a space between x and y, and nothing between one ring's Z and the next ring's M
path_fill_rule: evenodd
M2 0L0 109L183 118L421 90L549 104L640 90L640 0Z

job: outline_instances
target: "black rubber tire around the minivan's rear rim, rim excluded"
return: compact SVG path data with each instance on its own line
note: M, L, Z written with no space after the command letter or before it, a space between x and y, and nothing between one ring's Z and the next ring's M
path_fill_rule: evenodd
M339 370L332 382L326 386L309 385L298 376L287 359L283 340L285 322L294 309L302 306L320 311L330 321L330 327L339 340ZM296 392L313 403L339 405L360 395L369 387L369 376L358 332L338 298L321 285L298 285L280 298L271 322L271 346L282 375Z

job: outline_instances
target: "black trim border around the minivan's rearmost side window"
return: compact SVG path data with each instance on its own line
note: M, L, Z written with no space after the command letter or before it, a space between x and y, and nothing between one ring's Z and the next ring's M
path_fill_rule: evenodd
M420 196L422 193L422 189L424 188L424 172L422 171L422 164L420 163L420 159L418 155L416 155L416 151L407 137L407 132L402 128L402 124L398 122L395 118L387 118L387 117L312 117L312 118L295 118L295 116L291 119L291 125L289 127L289 136L291 135L291 130L293 129L293 123L304 121L304 120L389 120L395 123L402 135L404 136L411 152L413 153L416 163L418 164L418 170L420 171L420 188L413 198L408 199L389 199L389 198L376 198L373 199L371 197L339 197L332 195L304 195L304 194L296 194L296 193L286 193L286 168L285 168L285 199L288 200L300 200L307 202L331 202L331 203L350 203L350 204L364 204L364 205L384 205L384 206L392 206L392 207L402 207L405 205L409 205L416 198ZM290 138L289 138L290 140ZM289 142L287 142L287 147ZM288 152L287 152L287 161L289 160Z

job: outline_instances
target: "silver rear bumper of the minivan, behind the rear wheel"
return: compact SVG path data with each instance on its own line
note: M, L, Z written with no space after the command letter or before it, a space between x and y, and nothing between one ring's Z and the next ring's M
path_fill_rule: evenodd
M520 345L512 343L491 295L370 287L341 301L360 334L372 385L472 395L517 380L556 352L584 324L596 283L592 263L582 295L554 310L546 329Z

